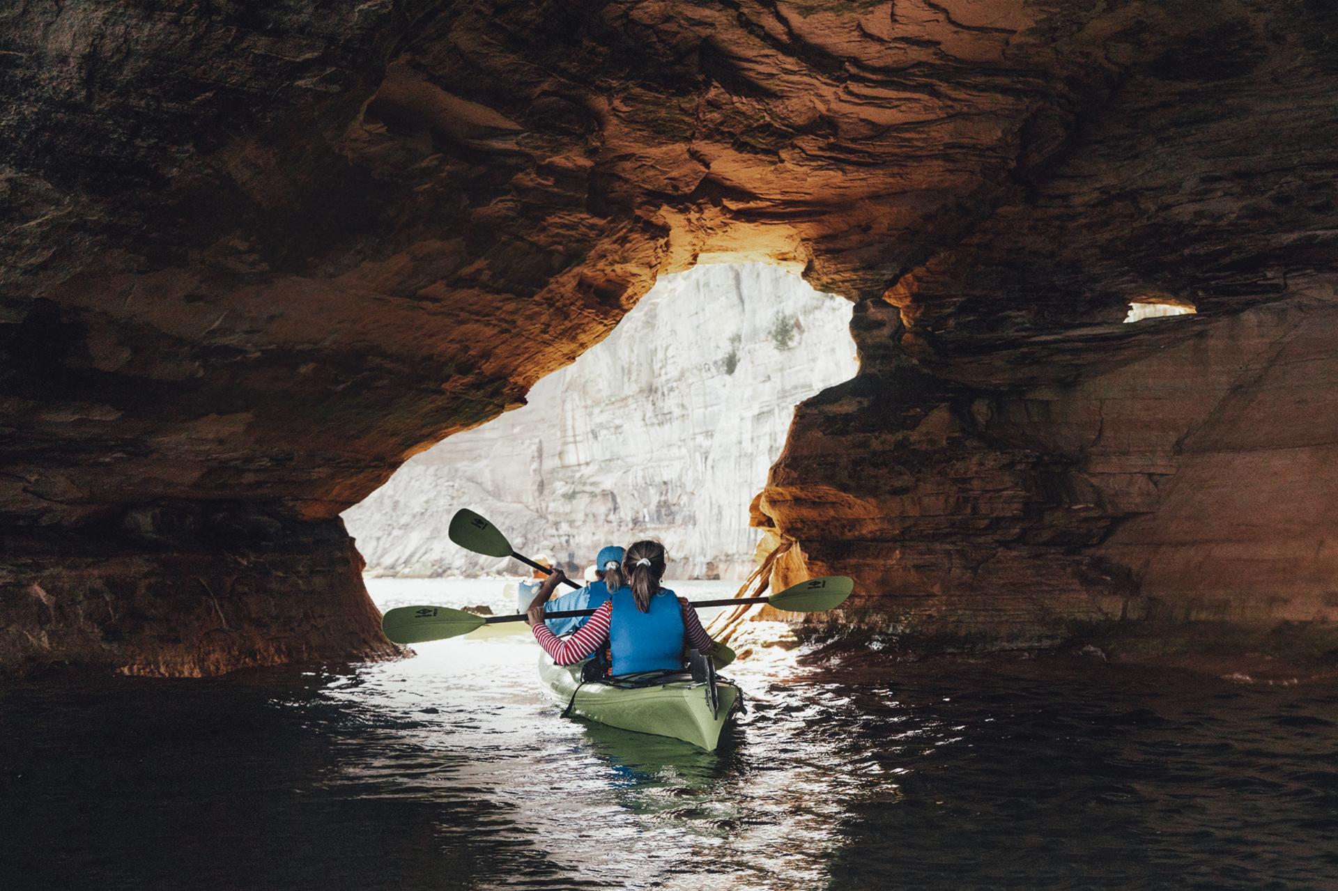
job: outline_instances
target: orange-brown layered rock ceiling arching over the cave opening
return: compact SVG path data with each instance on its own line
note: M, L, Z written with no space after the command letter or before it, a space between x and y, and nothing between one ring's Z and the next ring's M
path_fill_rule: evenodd
M1066 338L1331 261L1325 9L9 7L0 515L330 516L701 258L890 301L866 361L1124 361Z

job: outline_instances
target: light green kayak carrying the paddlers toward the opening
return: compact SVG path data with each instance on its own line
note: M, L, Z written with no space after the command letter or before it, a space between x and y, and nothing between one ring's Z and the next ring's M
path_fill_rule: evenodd
M665 680L637 688L598 681L581 684L581 665L557 665L547 653L539 654L539 680L554 702L562 708L571 702L573 714L591 721L670 736L708 752L714 752L720 730L739 704L739 688L729 681L716 681L717 708L713 709L709 688L702 681Z

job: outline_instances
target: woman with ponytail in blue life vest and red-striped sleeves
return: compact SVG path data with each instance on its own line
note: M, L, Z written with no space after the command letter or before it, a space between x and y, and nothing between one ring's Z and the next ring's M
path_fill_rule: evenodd
M575 634L561 639L543 623L543 605L533 605L529 622L534 637L558 665L573 665L605 644L613 657L611 674L677 672L684 646L702 654L714 648L697 611L688 601L660 586L665 549L660 542L637 542L622 559L628 585L615 590Z

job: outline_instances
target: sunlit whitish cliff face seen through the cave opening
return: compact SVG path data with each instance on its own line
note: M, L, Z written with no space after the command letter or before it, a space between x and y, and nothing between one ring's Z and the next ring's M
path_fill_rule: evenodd
M661 277L529 405L413 458L344 514L368 571L520 571L447 539L471 507L522 553L586 566L603 544L657 538L670 577L747 575L748 504L795 404L855 375L850 313L763 264Z

